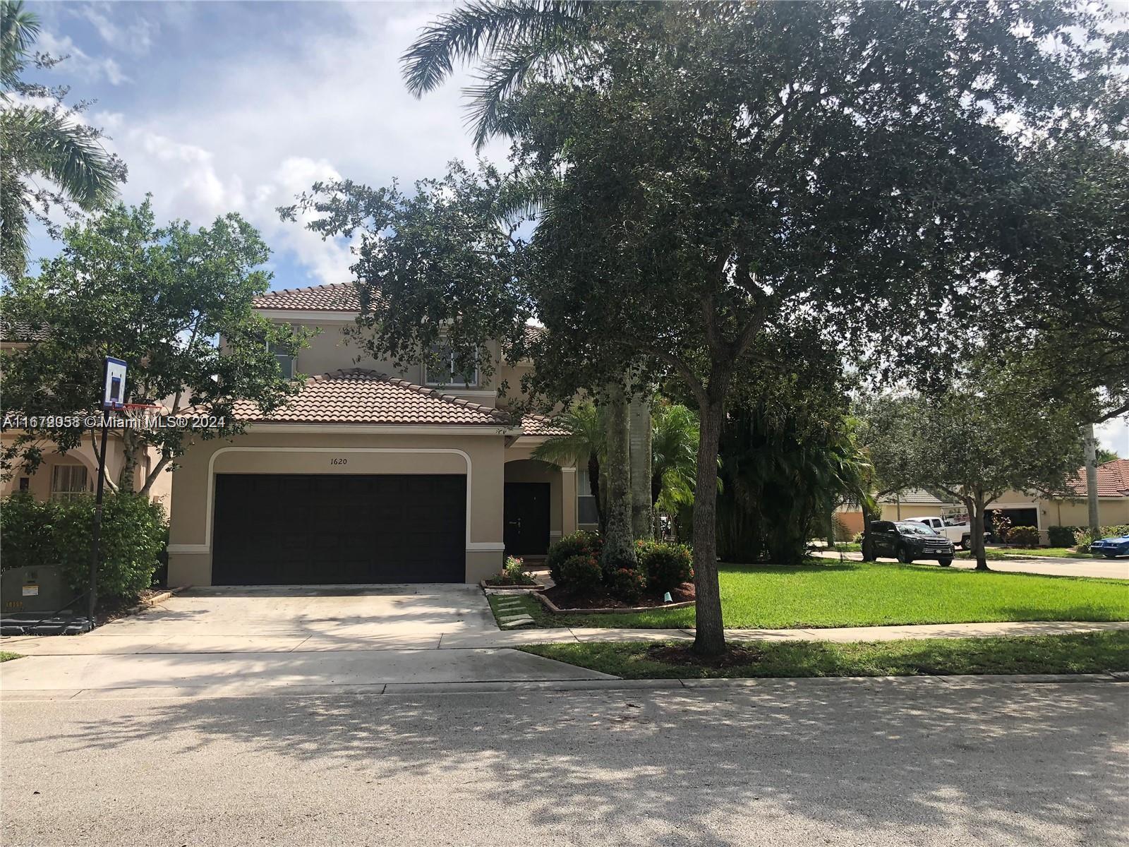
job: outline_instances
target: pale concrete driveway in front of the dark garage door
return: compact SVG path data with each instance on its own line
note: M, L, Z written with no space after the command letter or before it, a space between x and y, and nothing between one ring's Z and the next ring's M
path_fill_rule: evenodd
M266 688L371 691L607 679L499 647L439 649L497 634L470 585L192 588L85 636L6 638L5 698L229 696Z

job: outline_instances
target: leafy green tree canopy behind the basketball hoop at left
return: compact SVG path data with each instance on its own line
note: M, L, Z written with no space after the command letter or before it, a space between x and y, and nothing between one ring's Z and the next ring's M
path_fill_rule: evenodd
M44 340L3 353L5 410L37 420L5 449L6 473L16 464L34 472L45 443L65 453L84 436L93 439L96 427L65 419L99 409L105 356L128 363L124 396L132 402L164 403L170 417L200 409L222 421L122 430L125 487L146 448L160 459L143 491L193 438L242 431L236 401L268 412L283 403L298 384L282 375L275 353L297 352L307 333L252 309L270 282L261 269L269 254L238 215L200 229L160 226L148 200L68 227L61 253L44 260L37 277L14 280L0 299L7 321L46 330Z

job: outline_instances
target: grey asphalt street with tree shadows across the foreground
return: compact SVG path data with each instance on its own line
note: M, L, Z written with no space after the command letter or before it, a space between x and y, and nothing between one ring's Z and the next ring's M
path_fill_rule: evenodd
M1124 845L1129 686L0 704L5 847Z

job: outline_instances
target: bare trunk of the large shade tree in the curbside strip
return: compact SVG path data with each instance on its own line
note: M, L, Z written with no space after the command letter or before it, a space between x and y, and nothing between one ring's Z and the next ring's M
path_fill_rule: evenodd
M724 401L703 405L694 483L694 595L697 630L694 653L718 656L725 652L721 595L717 580L717 451L721 438Z

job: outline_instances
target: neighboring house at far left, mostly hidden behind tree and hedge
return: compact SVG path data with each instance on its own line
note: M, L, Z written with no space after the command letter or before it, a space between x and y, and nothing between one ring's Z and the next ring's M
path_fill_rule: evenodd
M0 350L34 344L46 338L46 333L47 330L43 328L32 329L27 324L0 321ZM18 430L6 429L0 438L2 438L3 446L7 447L19 435ZM159 459L156 449L151 449L142 456L133 478L134 488L140 488L143 484L149 469ZM121 436L111 430L106 448L106 479L112 482L116 481L121 475L124 461ZM94 445L89 439L85 439L80 447L68 451L65 454L52 449L51 445L45 445L43 461L35 473L30 473L24 468L15 468L11 479L0 483L0 495L8 496L16 491L28 491L40 500L70 499L84 494L93 494L97 479L98 460L95 457ZM172 489L172 474L161 473L149 490L152 499L164 503L167 509Z

